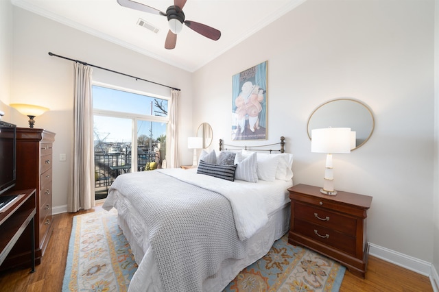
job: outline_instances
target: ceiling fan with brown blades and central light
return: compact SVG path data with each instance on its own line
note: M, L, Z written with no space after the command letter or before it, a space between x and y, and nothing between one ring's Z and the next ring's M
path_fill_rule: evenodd
M166 36L165 49L174 49L176 47L177 34L181 32L183 23L185 23L185 25L193 31L198 32L198 34L201 34L206 38L210 38L211 40L218 40L221 36L221 32L219 32L218 29L215 29L208 25L204 25L202 23L196 23L195 21L185 20L185 13L183 13L182 9L183 6L185 6L186 1L187 0L174 0L174 5L169 6L166 10L166 13L161 12L156 8L152 8L145 4L134 2L131 0L117 0L117 3L126 8L166 16L169 23L169 32Z

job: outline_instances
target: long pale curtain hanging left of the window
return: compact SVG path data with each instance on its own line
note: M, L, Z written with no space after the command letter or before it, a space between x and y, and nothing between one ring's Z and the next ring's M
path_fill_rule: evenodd
M95 161L93 150L93 69L75 63L75 104L73 121L73 173L67 210L76 212L95 206Z

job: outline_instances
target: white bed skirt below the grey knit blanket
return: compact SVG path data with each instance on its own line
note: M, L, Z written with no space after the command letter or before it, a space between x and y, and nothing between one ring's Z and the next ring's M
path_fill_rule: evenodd
M237 276L239 271L265 256L274 241L280 239L289 230L290 212L290 204L287 203L268 215L268 223L247 240L247 256L239 260L233 258L224 260L219 271L204 280L203 291L222 291ZM118 216L117 222L130 243L136 263L143 266L143 269L138 269L134 273L128 292L163 291L152 247L148 247L146 251L143 251L143 248L137 245L137 241L134 240L134 235L128 228L126 221Z

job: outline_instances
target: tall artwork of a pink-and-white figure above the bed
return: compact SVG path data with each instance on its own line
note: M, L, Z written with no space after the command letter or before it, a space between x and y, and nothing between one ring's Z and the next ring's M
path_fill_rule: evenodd
M267 61L232 77L232 140L267 139Z

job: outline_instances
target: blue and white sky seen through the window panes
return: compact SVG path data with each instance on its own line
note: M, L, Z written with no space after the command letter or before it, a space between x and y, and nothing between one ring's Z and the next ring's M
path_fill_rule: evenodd
M166 100L164 100L163 105L167 110ZM159 110L154 106L154 97L95 85L93 86L93 108L143 115L151 115L151 113L155 115L155 111ZM95 115L93 119L95 132L102 141L131 142L132 119L103 117L101 115ZM150 130L152 130L152 138L155 140L161 135L166 135L166 124L138 121L137 136L141 134L150 136Z

